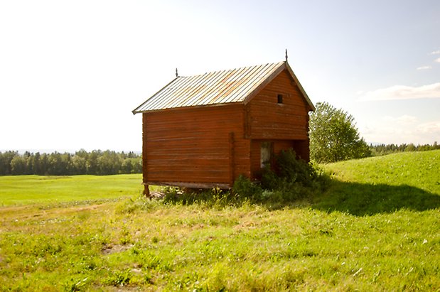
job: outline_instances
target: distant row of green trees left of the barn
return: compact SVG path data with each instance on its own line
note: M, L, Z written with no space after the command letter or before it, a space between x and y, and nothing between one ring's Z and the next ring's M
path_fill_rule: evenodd
M100 151L75 153L0 152L0 175L112 175L142 173L142 158L129 152Z

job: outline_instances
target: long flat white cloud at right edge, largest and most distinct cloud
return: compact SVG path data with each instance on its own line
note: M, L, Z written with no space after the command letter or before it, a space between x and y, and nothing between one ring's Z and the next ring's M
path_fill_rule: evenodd
M440 98L440 82L436 82L431 85L422 85L419 87L394 85L387 88L366 92L360 97L360 100L373 101L421 98Z

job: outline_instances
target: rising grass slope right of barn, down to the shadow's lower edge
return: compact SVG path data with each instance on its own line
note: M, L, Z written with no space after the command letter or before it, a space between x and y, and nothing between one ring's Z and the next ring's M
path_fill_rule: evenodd
M440 207L440 150L396 153L323 166L333 173L313 206L353 215Z

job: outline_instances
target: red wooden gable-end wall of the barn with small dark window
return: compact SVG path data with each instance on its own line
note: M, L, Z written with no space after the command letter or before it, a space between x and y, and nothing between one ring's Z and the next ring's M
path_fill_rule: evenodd
M261 148L264 142L272 143L273 154L293 148L299 158L309 161L310 107L286 70L251 99L246 107L247 135L252 140L252 179L261 178Z

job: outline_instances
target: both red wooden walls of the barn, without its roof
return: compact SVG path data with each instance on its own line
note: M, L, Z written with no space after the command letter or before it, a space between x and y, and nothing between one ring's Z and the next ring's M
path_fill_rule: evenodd
M264 141L308 161L311 110L283 70L247 103L144 112L144 184L227 188L239 175L258 179Z

